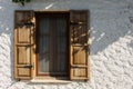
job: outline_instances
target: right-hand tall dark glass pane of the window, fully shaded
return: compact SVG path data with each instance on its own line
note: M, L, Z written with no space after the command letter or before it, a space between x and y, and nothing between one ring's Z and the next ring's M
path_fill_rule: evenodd
M57 72L66 73L66 19L57 19Z

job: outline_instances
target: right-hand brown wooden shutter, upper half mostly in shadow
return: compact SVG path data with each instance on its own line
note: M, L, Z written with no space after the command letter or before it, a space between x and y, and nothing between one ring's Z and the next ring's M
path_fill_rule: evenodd
M70 12L70 79L89 79L88 10Z

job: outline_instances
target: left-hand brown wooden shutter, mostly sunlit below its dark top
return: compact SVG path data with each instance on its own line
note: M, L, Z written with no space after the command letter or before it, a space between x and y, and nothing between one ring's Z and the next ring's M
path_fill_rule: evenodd
M33 55L33 11L14 13L14 78L31 79Z

